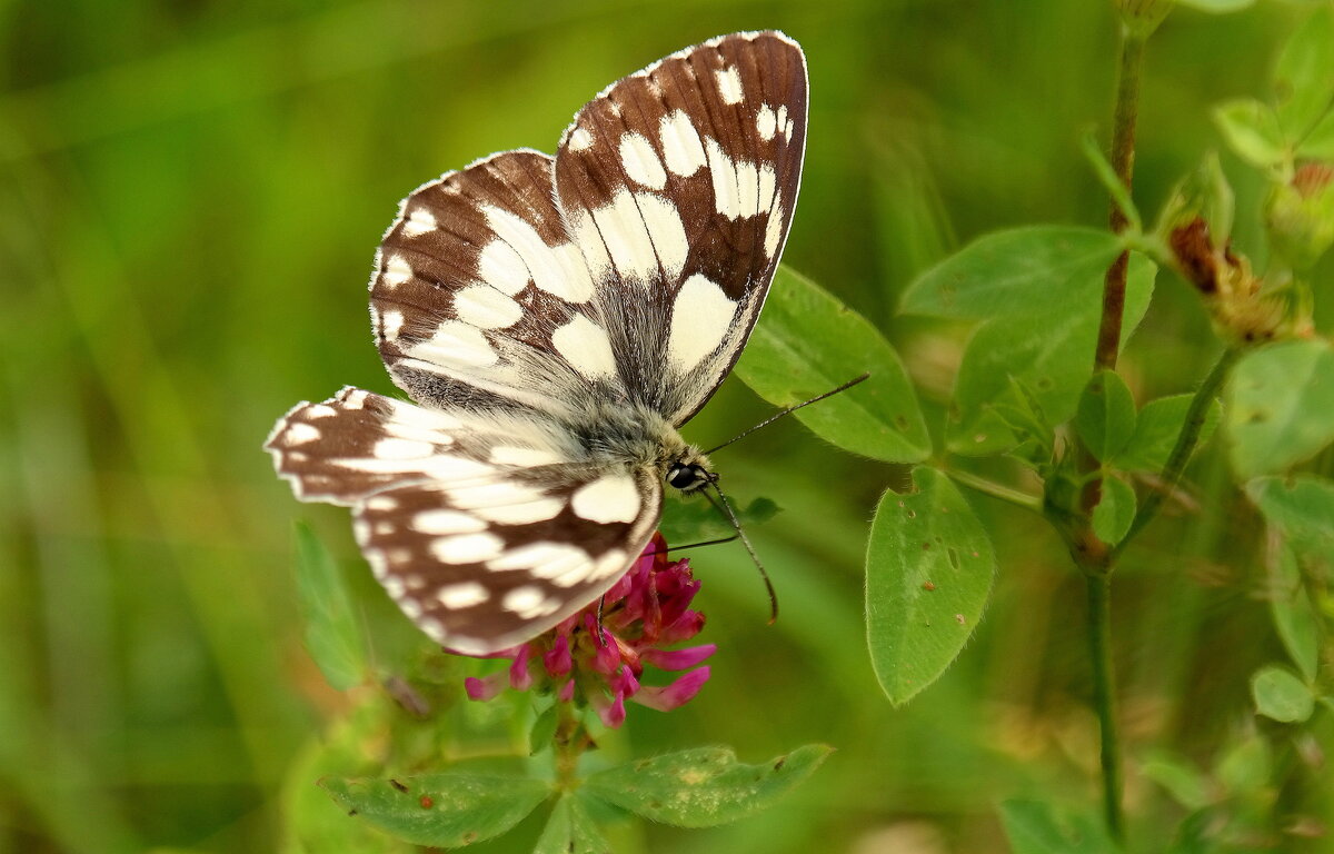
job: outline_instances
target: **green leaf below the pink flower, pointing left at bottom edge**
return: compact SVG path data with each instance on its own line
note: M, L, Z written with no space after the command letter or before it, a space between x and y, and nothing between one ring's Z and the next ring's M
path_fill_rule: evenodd
M443 849L499 837L551 794L538 779L455 771L398 781L325 777L320 786L380 830Z

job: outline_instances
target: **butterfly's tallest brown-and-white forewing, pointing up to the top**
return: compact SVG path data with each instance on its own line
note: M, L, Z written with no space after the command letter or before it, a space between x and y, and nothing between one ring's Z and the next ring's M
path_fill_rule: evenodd
M675 424L722 383L764 303L796 205L806 105L796 43L735 33L612 84L560 140L556 193L592 276L592 316L628 392Z

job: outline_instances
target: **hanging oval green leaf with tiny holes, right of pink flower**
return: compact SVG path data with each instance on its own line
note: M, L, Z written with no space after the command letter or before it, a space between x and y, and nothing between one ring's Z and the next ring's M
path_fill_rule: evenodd
M866 635L894 705L939 678L986 607L995 555L986 530L944 474L912 471L916 491L886 492L866 550Z

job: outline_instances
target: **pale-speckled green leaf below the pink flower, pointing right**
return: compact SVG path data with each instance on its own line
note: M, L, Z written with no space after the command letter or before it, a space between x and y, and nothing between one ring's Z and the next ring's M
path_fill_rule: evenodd
M807 745L746 765L730 747L698 747L599 771L582 791L655 822L712 827L772 806L832 751Z

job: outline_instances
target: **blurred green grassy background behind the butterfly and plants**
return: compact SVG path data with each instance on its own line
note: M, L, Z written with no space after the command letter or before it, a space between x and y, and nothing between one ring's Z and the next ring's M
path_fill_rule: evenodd
M1213 103L1265 95L1299 12L1167 20L1145 80L1143 209L1218 147ZM364 568L347 512L293 502L260 443L297 400L392 392L364 287L419 183L498 149L554 149L592 93L676 48L782 28L811 72L784 260L887 331L934 428L962 338L894 318L902 287L983 231L1106 216L1077 144L1109 124L1103 1L9 0L0 27L4 853L280 846L285 774L346 702L301 647L291 520ZM1223 163L1238 243L1261 252L1259 183ZM1125 372L1141 399L1186 391L1210 340L1163 274ZM716 443L766 411L732 380L686 434ZM992 603L955 667L894 710L864 651L860 555L903 472L795 420L715 462L734 495L787 510L754 532L783 616L764 624L739 548L695 554L714 679L670 715L632 710L624 749L839 751L782 809L648 829L647 847L998 851L998 799L1094 802L1083 584L1050 531L974 502L998 536ZM1217 447L1193 475L1226 482ZM1178 815L1135 763L1158 747L1209 762L1249 726L1246 679L1277 655L1247 524L1229 506L1161 520L1119 576L1141 826ZM524 850L538 827L486 847Z

